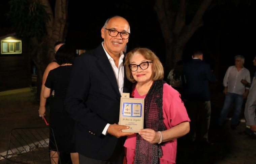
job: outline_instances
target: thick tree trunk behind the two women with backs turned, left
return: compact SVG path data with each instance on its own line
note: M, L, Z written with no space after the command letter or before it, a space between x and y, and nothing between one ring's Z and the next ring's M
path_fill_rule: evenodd
M55 17L48 0L41 0L42 4L47 6L46 11L50 14L50 20L47 23L47 35L41 42L36 38L31 38L31 59L37 68L37 97L40 97L42 86L42 76L47 65L54 61L54 44L57 41L65 41L66 21L67 21L67 0L56 0Z

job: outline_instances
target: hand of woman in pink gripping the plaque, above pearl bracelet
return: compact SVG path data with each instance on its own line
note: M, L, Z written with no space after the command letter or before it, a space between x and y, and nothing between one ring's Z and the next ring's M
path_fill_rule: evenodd
M160 134L153 129L140 129L139 135L150 143L158 143L160 141Z

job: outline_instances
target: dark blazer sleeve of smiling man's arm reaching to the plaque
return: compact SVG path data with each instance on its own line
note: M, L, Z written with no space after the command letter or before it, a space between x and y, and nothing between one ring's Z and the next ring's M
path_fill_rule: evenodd
M83 129L101 135L107 122L89 109L85 103L91 85L88 67L82 56L75 59L65 99L65 109Z

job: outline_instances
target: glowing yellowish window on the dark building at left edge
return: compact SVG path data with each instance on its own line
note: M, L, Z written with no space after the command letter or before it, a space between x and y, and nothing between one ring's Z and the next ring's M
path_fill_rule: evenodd
M22 41L13 37L1 40L1 54L21 54Z

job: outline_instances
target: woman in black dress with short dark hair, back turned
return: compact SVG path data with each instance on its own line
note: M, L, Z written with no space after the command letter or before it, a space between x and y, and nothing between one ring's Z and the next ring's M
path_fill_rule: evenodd
M79 163L78 153L75 152L75 145L71 142L74 121L64 110L64 100L75 56L75 52L68 45L62 45L55 55L56 62L60 66L49 72L44 84L44 98L49 97L51 91L54 90L54 95L50 101L49 116L50 127L53 130L53 133L50 133L49 143L51 163L58 163L60 153L70 153L72 163ZM57 145L58 149L55 145Z

